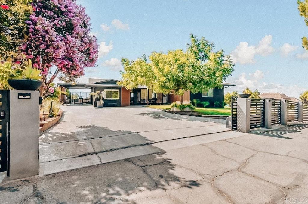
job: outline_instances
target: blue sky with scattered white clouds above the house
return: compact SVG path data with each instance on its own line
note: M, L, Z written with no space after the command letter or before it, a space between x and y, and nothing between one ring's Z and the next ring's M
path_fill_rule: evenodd
M308 52L301 46L308 27L295 0L78 3L86 7L100 44L98 66L86 68L80 82L88 77L120 79L121 57L185 49L193 33L232 54L236 67L227 82L237 84L235 90L248 86L298 97L308 89Z

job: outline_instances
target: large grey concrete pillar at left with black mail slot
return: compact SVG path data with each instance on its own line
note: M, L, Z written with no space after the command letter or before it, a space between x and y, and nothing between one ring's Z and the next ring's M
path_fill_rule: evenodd
M18 93L30 94L20 97ZM10 176L39 174L39 91L10 90Z

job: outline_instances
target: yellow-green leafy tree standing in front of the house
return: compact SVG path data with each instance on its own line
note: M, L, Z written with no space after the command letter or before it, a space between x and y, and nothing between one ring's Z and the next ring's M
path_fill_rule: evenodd
M231 75L234 64L223 50L213 51L214 45L205 38L190 35L187 50L171 50L168 53L152 52L150 62L145 56L136 61L122 58L124 71L118 82L128 89L145 85L155 93L178 94L183 104L185 91L192 93L221 87Z

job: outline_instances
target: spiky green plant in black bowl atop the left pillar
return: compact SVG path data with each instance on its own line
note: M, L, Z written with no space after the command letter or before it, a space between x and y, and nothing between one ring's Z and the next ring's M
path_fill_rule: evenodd
M32 68L31 63L23 71L22 75L17 79L8 79L8 84L16 90L38 90L42 85L43 81L41 70Z

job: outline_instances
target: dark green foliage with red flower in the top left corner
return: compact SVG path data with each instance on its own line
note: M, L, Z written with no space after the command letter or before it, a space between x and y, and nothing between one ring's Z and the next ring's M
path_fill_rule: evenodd
M30 0L0 0L0 60L20 57L20 45L26 40L27 25L34 8Z

